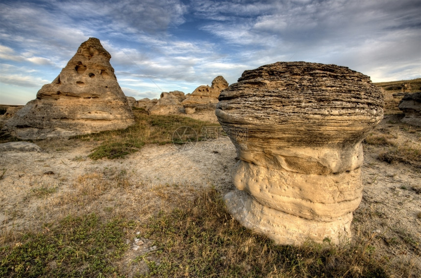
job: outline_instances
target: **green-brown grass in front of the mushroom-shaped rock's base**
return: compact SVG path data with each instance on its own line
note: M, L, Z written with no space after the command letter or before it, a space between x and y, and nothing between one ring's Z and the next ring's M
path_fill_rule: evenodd
M233 220L213 189L142 229L158 247L142 256L150 268L142 277L388 277L370 240L276 246Z

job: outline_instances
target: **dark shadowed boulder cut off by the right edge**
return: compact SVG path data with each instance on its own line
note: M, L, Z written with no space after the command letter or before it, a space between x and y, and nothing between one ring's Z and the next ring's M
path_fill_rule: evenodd
M421 126L421 92L405 94L398 108L405 114L401 121Z

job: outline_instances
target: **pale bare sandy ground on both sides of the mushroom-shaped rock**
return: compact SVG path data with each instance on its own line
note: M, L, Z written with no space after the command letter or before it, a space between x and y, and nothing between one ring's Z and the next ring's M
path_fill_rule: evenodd
M421 144L420 131L408 133L399 127L386 116L377 129ZM42 152L1 152L0 174L5 171L0 180L1 231L36 230L65 214L89 211L142 220L173 198L188 199L194 190L214 186L225 193L233 188L230 170L236 155L227 137L197 142L189 150L172 144L146 145L124 159L98 161L88 158L93 144L51 140L39 143ZM353 233L371 238L379 255L413 265L421 274L420 169L379 161L382 148L365 145L365 189L354 213ZM79 184L93 188L85 192L85 202L72 199L77 190L83 195Z

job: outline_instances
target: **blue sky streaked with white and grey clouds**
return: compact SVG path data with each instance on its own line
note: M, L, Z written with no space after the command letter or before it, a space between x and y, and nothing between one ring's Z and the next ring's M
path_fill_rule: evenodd
M421 77L420 0L1 0L0 103L34 99L89 37L136 99L277 61Z

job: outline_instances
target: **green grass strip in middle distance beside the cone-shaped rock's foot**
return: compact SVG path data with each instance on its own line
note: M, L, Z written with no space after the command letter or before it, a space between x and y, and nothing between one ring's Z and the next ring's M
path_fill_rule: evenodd
M144 144L167 144L173 141L174 131L182 126L192 128L198 140L204 139L202 129L205 126L218 127L219 124L195 120L176 115L147 115L143 109L133 109L136 123L124 130L104 131L88 135L72 137L82 141L99 141L89 157L93 160L101 158L123 158L138 151Z

